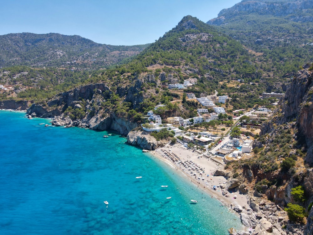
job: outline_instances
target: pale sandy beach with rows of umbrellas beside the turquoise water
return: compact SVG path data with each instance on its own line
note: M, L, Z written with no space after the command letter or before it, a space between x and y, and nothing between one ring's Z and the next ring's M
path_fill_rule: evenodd
M227 194L230 196L226 197L222 195L222 189L220 187L216 187L216 190L213 190L213 186L226 183L226 179L223 176L213 176L216 170L223 169L223 165L207 157L202 157L201 154L187 149L181 144L167 144L155 151L150 151L150 154L166 161L172 166L173 172L176 171L177 174L188 177L194 183L195 187L201 188L209 196L220 201L222 205L229 208L236 205L243 208L250 208L245 195L241 195L238 192L228 192ZM226 190L224 189L224 191Z

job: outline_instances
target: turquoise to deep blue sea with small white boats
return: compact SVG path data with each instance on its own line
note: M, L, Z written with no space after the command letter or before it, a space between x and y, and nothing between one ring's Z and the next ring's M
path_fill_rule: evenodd
M227 235L230 227L241 229L219 201L125 137L42 123L49 119L0 110L0 234Z

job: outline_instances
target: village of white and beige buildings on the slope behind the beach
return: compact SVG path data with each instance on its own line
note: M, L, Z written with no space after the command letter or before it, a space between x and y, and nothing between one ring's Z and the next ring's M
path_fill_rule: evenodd
M170 84L169 88L184 89L192 85L190 82L190 80L185 80L184 84ZM192 80L192 82L197 82L197 80ZM274 92L263 93L264 98L280 98L282 95ZM147 132L170 130L184 147L195 148L202 156L215 159L221 164L238 160L244 154L249 156L249 153L253 151L253 139L259 135L260 124L266 121L272 113L266 107L258 107L249 112L245 112L244 109L234 110L233 116L229 116L224 107L216 105L216 103L225 104L229 100L227 95L198 98L193 93L187 93L186 96L188 100L197 100L204 106L197 109L198 116L187 119L168 117L162 121L161 116L155 112L166 105L159 104L154 107L154 110L147 112L146 118L149 122L142 124L141 128ZM214 112L209 112L210 110ZM222 122L216 125L214 122L225 119L230 119L231 124ZM202 123L210 123L211 128L203 128Z

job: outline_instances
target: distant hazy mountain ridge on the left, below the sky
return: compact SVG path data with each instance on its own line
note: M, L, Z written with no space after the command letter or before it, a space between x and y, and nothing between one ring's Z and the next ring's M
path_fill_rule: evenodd
M16 33L0 35L0 66L80 66L105 68L138 54L146 45L114 46L79 35Z

